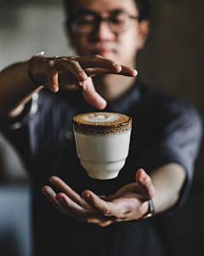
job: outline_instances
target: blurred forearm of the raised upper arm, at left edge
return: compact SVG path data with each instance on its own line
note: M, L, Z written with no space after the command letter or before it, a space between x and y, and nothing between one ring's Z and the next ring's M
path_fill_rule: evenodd
M27 74L27 61L5 68L0 73L0 116L19 114L32 94L40 88Z

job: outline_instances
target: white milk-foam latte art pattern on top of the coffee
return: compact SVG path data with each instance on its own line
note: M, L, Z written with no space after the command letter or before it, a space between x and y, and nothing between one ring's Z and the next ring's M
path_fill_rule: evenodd
M87 113L82 116L84 121L98 123L98 122L114 122L119 119L116 113Z

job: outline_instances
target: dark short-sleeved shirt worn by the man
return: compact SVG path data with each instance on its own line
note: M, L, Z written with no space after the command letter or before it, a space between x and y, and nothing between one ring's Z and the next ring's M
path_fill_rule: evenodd
M62 215L41 189L49 184L50 176L57 175L80 195L84 189L111 195L135 182L140 167L150 173L168 163L178 163L187 174L177 203L182 205L190 191L201 144L199 113L184 100L135 81L105 108L131 116L133 130L126 165L119 176L100 181L88 177L80 165L72 133L72 117L92 111L97 110L84 101L79 91L60 90L54 94L43 89L19 117L1 119L3 133L20 151L31 175L35 255L172 256L173 209L137 224L99 228Z

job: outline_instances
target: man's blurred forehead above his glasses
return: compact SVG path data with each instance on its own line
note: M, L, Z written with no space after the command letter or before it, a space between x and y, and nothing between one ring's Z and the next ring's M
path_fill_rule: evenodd
M75 0L73 14L79 9L90 9L96 13L110 13L114 9L123 9L132 15L138 15L134 0Z

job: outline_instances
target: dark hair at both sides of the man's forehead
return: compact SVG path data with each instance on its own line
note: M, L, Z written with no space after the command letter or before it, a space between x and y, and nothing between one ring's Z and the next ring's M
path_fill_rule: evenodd
M139 20L150 19L150 3L149 0L134 0L139 9ZM74 0L63 0L65 6L65 16L71 18L71 10L73 7Z

